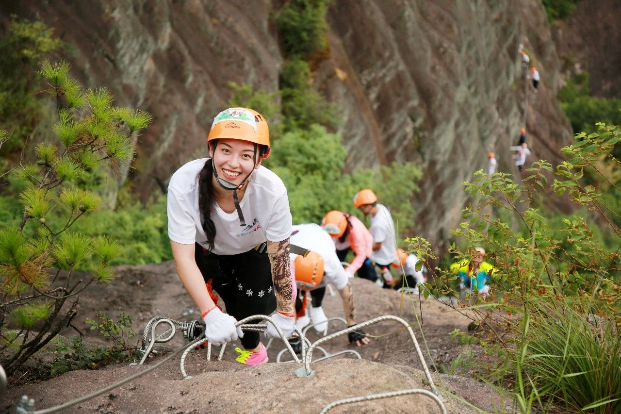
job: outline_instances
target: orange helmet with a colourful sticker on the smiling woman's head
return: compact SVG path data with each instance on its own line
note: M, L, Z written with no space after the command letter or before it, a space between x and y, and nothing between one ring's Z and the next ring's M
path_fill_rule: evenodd
M260 113L248 108L229 108L217 114L211 124L207 142L229 138L254 142L267 147L263 158L270 155L270 129Z

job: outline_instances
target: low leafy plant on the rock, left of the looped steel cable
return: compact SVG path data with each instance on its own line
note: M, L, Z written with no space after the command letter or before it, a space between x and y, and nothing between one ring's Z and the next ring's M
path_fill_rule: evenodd
M106 339L112 341L109 347L87 347L81 337L71 337L66 344L60 338L52 339L48 351L55 352L57 359L52 363L50 375L63 374L76 369L99 369L109 364L134 361L135 346L128 343L135 338L134 329L128 325L132 317L121 313L119 320L114 321L105 313L97 312L96 320L87 320L91 331L97 330Z

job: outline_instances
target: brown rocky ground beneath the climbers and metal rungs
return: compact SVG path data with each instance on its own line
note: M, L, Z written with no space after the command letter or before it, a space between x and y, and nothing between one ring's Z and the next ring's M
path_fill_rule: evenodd
M367 280L356 278L351 282L358 322L376 316L394 315L411 324L448 412L510 411L510 400L502 399L491 387L465 377L435 373L440 364L450 366L450 362L464 351L456 340L450 339L449 334L456 328L465 331L470 321L468 318L432 298L410 300L407 296L401 297L399 293L379 288ZM338 294L326 295L324 309L329 317L344 316ZM140 334L153 316L188 321L200 318L176 277L172 262L117 267L117 279L111 286L89 287L88 292L80 297L80 313L74 324L86 333L90 343L104 342L87 332L86 325L78 323L94 318L96 311L100 310L109 316L116 316L120 311L134 316L133 327ZM344 327L338 321L331 322L329 333ZM274 340L268 349L270 363L258 367L246 367L235 362L237 353L233 349L238 344L229 344L222 361L207 362L205 350L190 352L185 368L192 375L191 379L184 380L181 376L177 355L152 372L63 412L317 413L325 405L342 398L412 388L429 390L421 370L422 364L402 325L383 321L369 326L366 331L372 341L363 347L351 346L347 336L340 336L322 345L331 353L356 349L360 352L361 360L349 354L314 363L312 369L315 373L309 378L294 375L294 371L300 367L294 362L271 363L276 361L276 355L284 348L280 341ZM71 336L76 331L67 328L62 334ZM307 338L312 343L320 337L311 328ZM148 359L145 366L156 364L173 349L187 343L181 333L176 334L172 341L158 347L160 354ZM214 350L212 360L215 359L215 353ZM313 357L317 359L322 355L322 352L315 351ZM288 359L291 356L283 356L283 361ZM36 364L37 359L33 359L32 363ZM68 372L37 384L10 387L0 409L3 408L7 413L14 412L21 395L34 398L37 410L52 407L99 390L143 369L143 366L117 364L99 370ZM407 395L342 405L330 411L435 413L439 409L431 398Z

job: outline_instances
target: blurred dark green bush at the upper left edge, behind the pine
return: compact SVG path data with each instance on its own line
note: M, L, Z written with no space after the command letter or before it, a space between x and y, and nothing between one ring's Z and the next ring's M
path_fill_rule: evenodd
M0 154L21 149L39 121L42 107L35 92L40 78L34 70L60 47L53 29L43 22L11 16L8 32L0 38L0 129L11 131L11 137L0 137Z

